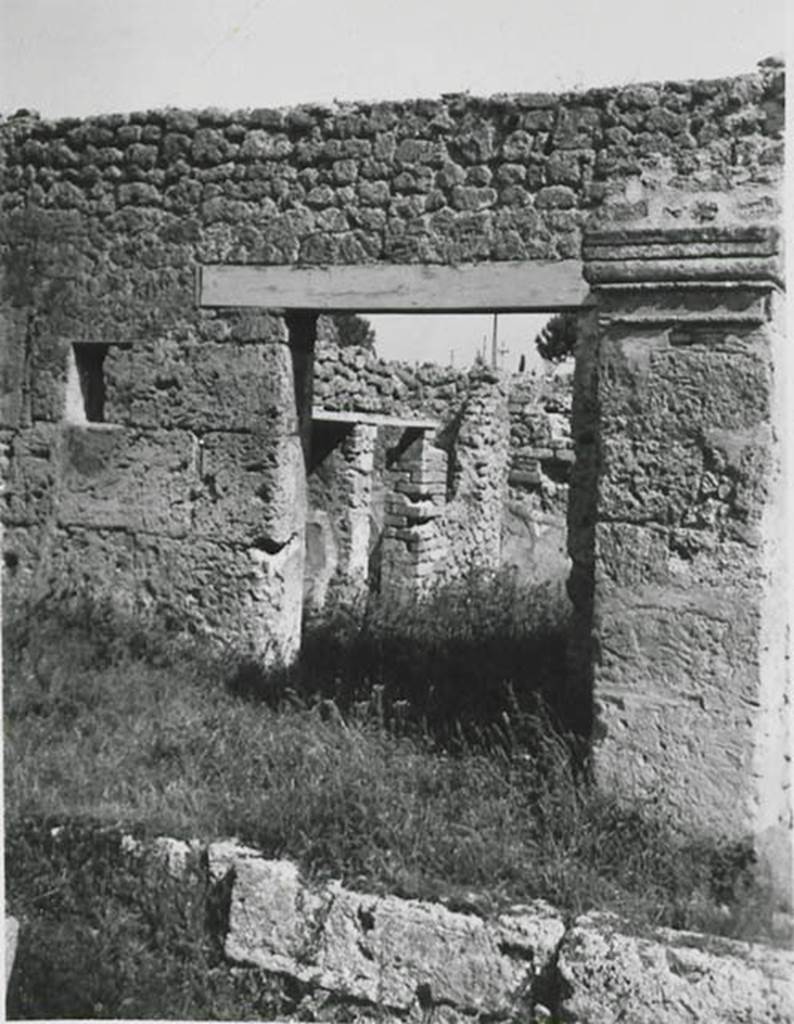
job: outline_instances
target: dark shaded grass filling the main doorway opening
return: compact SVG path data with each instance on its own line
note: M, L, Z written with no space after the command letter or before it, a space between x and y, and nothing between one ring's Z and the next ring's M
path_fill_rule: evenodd
M493 739L507 719L508 728L526 724L528 713L581 734L589 694L568 679L569 621L561 588L472 567L423 600L372 601L316 617L298 685L342 708L378 687L384 713L421 722L445 746Z

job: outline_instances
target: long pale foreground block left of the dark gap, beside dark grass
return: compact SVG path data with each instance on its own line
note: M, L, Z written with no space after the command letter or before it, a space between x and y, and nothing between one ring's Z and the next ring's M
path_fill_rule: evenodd
M233 864L226 955L373 1008L419 1010L419 991L424 1008L496 1017L526 1010L565 931L540 901L486 922L337 883L312 889L291 863L249 851Z

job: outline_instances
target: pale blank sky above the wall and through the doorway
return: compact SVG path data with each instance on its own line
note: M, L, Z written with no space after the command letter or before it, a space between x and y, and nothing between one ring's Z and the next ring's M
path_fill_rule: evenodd
M782 53L785 10L786 0L0 0L0 112L279 106L718 77ZM488 317L379 321L384 354L447 361L455 347L459 365L491 330ZM500 317L508 365L539 323Z

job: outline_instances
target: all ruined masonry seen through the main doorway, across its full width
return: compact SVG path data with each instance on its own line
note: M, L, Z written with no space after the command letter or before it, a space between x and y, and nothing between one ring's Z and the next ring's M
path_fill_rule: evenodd
M430 509L425 504L414 510L415 518L431 513L422 524L421 540L419 534L412 536L415 546L425 552L421 571L434 579L460 571L469 562L492 567L501 564L511 566L521 580L553 582L562 589L571 568L566 518L568 478L574 460L572 371L572 366L563 366L542 374L508 376L493 375L482 368L472 375L452 367L385 360L362 349L319 341L315 407L363 415L402 415L406 421L423 416L437 419L435 443L446 453L442 477L434 487L417 490L417 501L421 496L434 506ZM504 436L505 425L509 438ZM320 427L316 424L316 430ZM347 570L342 550L342 538L348 530L347 490L335 486L347 473L341 446L347 432L333 424L324 429L332 445L338 446L329 449L320 441L309 475L308 530L317 557L308 566L307 599L315 605L322 605L328 596L324 583L317 589L315 574L318 581L325 580L332 564L331 571L345 575ZM378 541L385 494L399 482L393 471L390 475L386 471L386 453L399 441L396 428L377 431L379 456L373 463L376 497L370 508L371 583L379 579L382 552ZM391 525L407 528L404 519L411 509L405 496L392 497L389 508ZM398 561L408 565L411 560L406 558L406 552L398 552ZM394 572L399 575L396 568ZM359 579L361 587L353 592L362 593L367 580L361 573Z

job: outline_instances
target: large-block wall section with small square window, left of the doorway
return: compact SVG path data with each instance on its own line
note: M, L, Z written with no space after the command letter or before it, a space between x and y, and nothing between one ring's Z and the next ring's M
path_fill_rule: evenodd
M257 318L253 338L241 323L206 323L228 333L223 344L185 331L94 345L96 421L76 346L55 348L41 374L22 366L33 390L2 428L5 594L84 588L131 614L151 609L287 656L297 637L274 609L299 608L289 578L302 565L304 503L287 330L274 316ZM28 328L30 362L38 330Z

